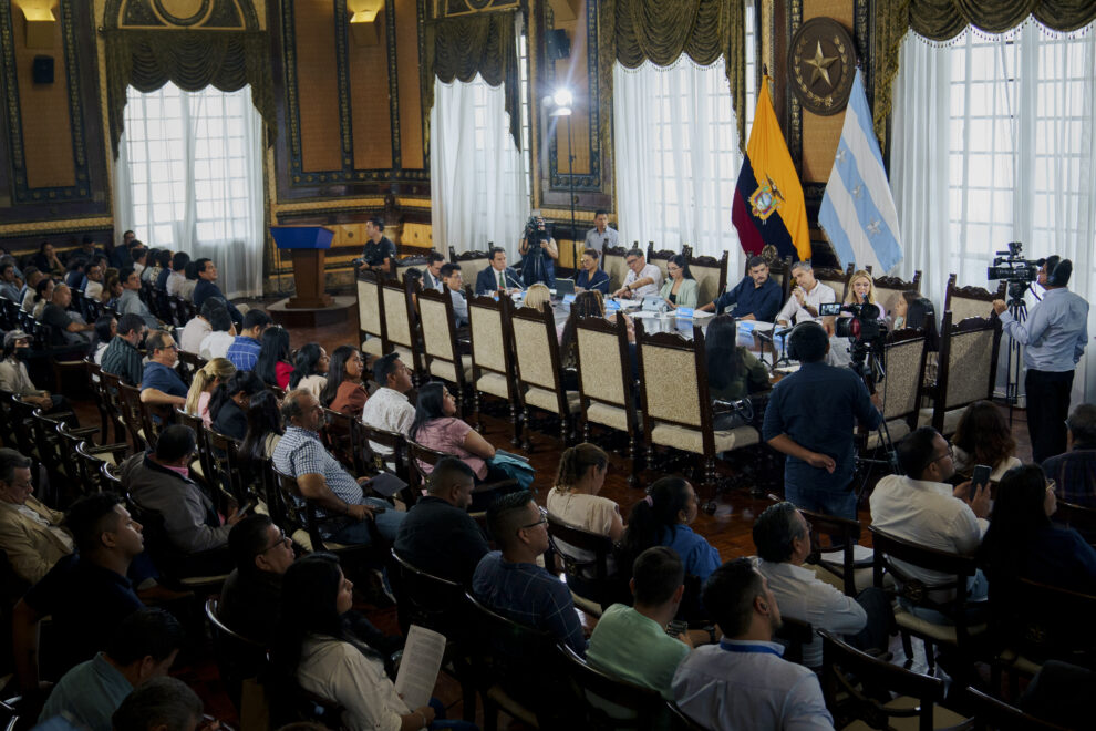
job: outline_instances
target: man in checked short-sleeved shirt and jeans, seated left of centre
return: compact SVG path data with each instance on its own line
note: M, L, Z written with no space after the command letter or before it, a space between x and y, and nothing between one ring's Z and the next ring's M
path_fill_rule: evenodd
M406 513L390 509L383 500L365 497L368 477L352 477L320 443L317 431L323 408L303 389L286 394L281 404L286 434L275 447L275 470L296 477L301 495L317 504L320 534L338 543L370 544L371 524L394 540ZM379 509L380 508L380 509Z

